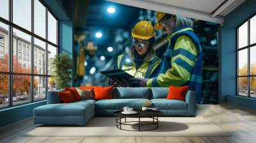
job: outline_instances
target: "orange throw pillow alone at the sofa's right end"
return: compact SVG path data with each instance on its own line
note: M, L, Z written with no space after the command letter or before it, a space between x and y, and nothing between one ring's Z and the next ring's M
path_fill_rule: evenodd
M189 86L181 86L181 87L170 86L169 93L166 99L182 100L183 102L185 102L188 89L189 89Z

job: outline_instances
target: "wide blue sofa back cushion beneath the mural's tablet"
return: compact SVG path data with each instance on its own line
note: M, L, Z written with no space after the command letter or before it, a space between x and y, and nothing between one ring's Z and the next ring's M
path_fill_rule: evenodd
M150 99L150 88L148 87L117 87L115 89L114 98L145 98Z

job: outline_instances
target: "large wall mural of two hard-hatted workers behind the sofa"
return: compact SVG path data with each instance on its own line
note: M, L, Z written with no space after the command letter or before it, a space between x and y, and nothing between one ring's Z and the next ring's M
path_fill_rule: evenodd
M189 86L198 103L218 103L218 24L108 1L84 3L74 15L75 86ZM137 84L100 73L114 69Z

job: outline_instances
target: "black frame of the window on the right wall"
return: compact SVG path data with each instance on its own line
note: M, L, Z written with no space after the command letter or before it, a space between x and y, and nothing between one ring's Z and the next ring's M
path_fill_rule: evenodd
M251 15L250 17L248 17L246 20L244 20L241 24L239 24L239 26L236 27L236 95L237 96L243 96L241 94L239 94L239 77L247 77L247 96L243 96L246 98L253 98L255 99L256 97L252 97L251 96L251 87L250 87L250 79L251 77L256 77L256 75L251 75L251 64L250 64L250 50L251 48L256 46L256 43L252 43L250 44L250 20L256 16L256 13L253 13L253 15ZM246 22L248 22L248 41L247 41L247 45L244 47L241 47L239 49L239 27L243 26L243 24L245 24ZM239 75L239 51L247 49L247 55L248 55L248 59L247 59L247 63L248 63L248 67L247 67L247 75Z

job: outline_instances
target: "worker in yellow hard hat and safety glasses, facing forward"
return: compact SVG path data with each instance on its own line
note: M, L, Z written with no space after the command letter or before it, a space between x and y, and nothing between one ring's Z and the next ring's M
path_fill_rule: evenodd
M156 34L154 27L151 22L141 20L134 26L131 34L133 46L129 52L117 57L114 69L122 69L134 77L156 77L161 59L153 49ZM124 81L113 80L119 86L129 86Z

